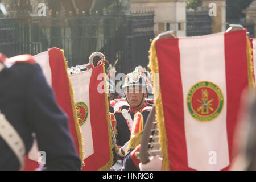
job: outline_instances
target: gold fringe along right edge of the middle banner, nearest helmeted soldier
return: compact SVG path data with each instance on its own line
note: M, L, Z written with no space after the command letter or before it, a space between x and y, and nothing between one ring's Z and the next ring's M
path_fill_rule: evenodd
M113 151L112 151L112 134L111 134L111 129L110 129L110 118L109 118L109 101L108 101L108 93L106 91L108 91L108 88L106 88L106 72L105 72L105 62L102 63L103 64L103 72L104 72L104 91L105 91L105 107L106 107L106 118L107 118L107 125L108 125L108 134L109 134L109 153L110 153L110 159L109 161L102 166L100 169L98 169L98 171L108 171L110 169L110 167L112 167L113 164Z

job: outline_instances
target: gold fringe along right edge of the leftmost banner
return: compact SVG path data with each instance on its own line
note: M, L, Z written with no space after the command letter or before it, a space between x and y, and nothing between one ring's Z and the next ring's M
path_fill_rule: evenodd
M69 75L68 75L67 60L66 60L65 55L64 55L64 50L61 50L61 52L63 54L64 64L65 64L65 69L66 69L66 75L67 75L67 78L68 78L69 93L70 93L70 98L71 98L73 117L74 117L74 122L75 122L75 127L76 127L77 140L79 142L79 157L81 159L82 166L84 166L84 148L82 147L82 143L84 141L83 141L83 138L82 138L82 133L81 133L81 127L79 125L79 120L77 118L77 111L76 111L75 102L74 102L74 92L73 92L71 81L70 81L70 78L69 78ZM82 166L81 166L81 168L82 168Z

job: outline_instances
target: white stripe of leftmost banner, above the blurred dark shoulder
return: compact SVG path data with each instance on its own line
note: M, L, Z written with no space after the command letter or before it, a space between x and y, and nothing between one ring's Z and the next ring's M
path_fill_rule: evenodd
M40 65L42 68L42 71L44 73L44 76L46 77L47 83L52 86L52 72L51 67L49 65L49 53L48 51L41 52L38 55L33 56L36 63Z

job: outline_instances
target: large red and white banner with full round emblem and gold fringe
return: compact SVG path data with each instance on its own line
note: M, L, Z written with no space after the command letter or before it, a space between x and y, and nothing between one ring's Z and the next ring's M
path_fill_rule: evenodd
M163 170L227 170L242 91L254 87L246 30L155 39L150 48Z

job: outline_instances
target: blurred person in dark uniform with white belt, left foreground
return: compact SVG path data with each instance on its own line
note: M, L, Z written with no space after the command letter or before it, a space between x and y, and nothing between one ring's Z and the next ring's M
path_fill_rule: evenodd
M79 170L68 119L31 55L0 54L0 170L19 170L36 134L46 170ZM43 156L44 157L44 156Z

